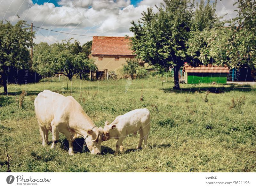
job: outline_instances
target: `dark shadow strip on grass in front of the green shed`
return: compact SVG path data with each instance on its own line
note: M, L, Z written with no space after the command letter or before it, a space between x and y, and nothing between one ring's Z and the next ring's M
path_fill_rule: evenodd
M195 86L195 87L185 87L185 88L181 88L180 90L177 89L173 89L173 88L166 88L164 89L164 93L195 93L198 91L209 91L210 93L215 93L215 94L219 94L219 93L225 93L225 92L231 92L231 91L243 91L243 92L250 92L252 91L252 87L248 87L248 86L235 86L235 85L230 85L230 87L200 87L199 89L199 85Z

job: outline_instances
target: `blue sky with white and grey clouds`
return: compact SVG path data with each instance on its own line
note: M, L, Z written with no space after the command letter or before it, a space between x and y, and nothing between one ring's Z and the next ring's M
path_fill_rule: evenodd
M19 18L33 22L34 26L82 34L76 36L39 29L36 43L41 41L52 44L71 37L81 44L98 36L132 36L129 31L131 21L141 18L141 12L148 6L159 5L163 0L0 0L0 18L15 24ZM234 18L237 0L218 0L216 13L225 19Z

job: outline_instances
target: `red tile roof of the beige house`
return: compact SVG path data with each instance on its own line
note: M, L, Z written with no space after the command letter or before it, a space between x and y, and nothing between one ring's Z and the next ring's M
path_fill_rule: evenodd
M92 55L133 55L129 38L93 36Z

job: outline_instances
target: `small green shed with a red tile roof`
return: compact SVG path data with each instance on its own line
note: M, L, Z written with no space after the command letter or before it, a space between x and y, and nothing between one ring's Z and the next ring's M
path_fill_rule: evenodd
M183 68L185 83L199 84L199 83L216 83L226 84L227 74L229 69L227 66L198 66L193 67L185 65Z

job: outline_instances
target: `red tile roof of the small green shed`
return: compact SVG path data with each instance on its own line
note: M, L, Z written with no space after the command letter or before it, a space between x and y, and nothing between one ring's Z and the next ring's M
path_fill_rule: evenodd
M221 66L198 66L193 67L189 65L184 66L185 72L209 72L209 73L229 73L228 67Z

